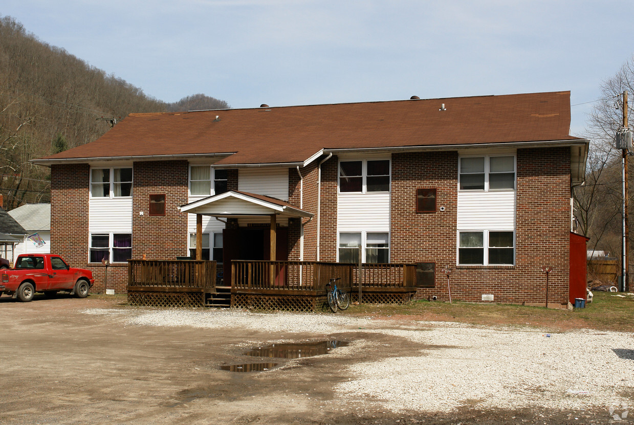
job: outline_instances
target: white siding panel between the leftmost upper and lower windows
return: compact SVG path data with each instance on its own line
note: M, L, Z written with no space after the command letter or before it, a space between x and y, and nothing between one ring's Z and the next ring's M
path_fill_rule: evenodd
M90 233L132 233L132 198L91 198Z

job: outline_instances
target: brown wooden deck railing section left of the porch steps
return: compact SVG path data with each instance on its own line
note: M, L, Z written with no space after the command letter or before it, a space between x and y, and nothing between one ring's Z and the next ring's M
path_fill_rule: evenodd
M133 287L216 287L216 262L197 260L129 260L127 284Z

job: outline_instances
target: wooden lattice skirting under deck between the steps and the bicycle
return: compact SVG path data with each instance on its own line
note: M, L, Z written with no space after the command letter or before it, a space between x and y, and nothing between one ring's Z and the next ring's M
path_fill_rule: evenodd
M231 308L249 310L283 310L286 312L321 312L328 308L325 295L231 294Z

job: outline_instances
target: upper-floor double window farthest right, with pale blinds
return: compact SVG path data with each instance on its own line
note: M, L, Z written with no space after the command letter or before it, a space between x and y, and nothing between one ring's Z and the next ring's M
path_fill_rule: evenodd
M515 156L461 156L461 191L515 190Z

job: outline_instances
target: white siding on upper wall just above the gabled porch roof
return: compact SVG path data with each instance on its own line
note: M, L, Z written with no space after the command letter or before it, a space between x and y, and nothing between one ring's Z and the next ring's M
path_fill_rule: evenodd
M288 168L240 168L238 190L288 201Z

